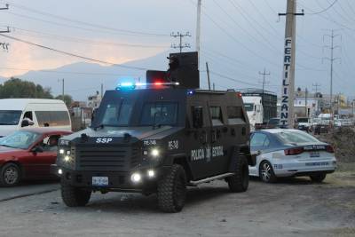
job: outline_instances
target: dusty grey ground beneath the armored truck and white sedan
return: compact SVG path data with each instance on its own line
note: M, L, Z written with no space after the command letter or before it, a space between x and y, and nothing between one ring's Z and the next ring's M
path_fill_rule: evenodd
M0 236L354 236L355 174L231 194L223 181L192 188L185 209L159 212L154 195L93 194L67 208L59 191L0 202Z

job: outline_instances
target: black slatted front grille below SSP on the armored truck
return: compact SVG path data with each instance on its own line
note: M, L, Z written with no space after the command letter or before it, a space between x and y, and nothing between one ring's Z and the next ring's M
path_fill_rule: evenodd
M139 161L139 149L132 146L84 146L76 149L78 170L128 171Z

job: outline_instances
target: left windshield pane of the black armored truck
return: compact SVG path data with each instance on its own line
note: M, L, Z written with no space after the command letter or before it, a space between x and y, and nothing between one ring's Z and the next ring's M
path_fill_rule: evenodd
M114 127L128 126L132 108L133 102L126 99L115 103L108 103L100 124Z

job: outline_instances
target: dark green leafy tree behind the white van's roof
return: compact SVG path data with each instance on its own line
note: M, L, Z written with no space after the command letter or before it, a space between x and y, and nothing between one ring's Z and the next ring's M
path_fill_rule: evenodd
M53 99L51 88L43 88L40 84L11 78L0 84L0 99L7 98L39 98Z

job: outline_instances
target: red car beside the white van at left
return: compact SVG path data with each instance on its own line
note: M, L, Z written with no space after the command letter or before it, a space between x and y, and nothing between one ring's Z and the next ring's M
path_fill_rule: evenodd
M70 131L46 129L18 130L0 138L0 185L15 186L22 179L53 178L58 139Z

